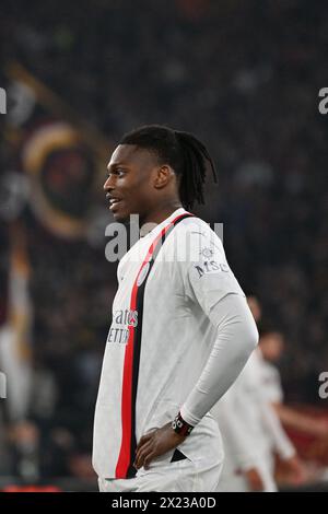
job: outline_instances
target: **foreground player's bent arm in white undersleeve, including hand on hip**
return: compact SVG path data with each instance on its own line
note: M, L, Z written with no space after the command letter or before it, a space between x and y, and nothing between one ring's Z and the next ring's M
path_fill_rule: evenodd
M181 444L236 379L258 342L257 328L244 296L225 295L209 317L216 327L216 338L196 386L178 413L181 427L174 430L168 423L141 437L136 457L138 469Z

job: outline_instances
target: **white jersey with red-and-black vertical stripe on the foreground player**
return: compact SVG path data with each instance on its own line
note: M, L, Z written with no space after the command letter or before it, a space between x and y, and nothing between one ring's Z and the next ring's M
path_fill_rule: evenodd
M95 410L93 466L98 476L119 479L136 474L140 437L171 422L197 383L215 337L208 317L213 305L229 293L245 295L221 240L183 208L131 247L117 278ZM179 449L191 460L222 459L218 423L210 413ZM155 460L166 463L172 455Z

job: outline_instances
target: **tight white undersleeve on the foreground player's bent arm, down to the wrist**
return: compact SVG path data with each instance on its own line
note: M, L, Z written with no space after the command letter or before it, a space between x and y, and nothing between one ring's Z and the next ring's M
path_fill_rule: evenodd
M218 336L201 376L180 409L196 425L236 379L258 342L258 331L246 299L223 297L210 313Z

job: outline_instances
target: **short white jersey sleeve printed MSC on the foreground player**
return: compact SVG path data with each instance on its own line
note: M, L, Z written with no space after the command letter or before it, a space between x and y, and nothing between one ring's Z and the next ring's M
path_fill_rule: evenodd
M189 257L184 269L185 294L206 314L227 294L245 296L232 272L220 237L209 227L189 231Z

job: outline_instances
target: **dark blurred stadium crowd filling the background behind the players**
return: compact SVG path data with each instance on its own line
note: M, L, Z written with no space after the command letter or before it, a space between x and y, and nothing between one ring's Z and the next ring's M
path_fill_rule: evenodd
M302 0L1 3L0 85L13 103L9 94L0 120L0 371L7 362L24 372L12 398L0 400L0 476L94 477L93 409L116 290L102 180L115 141L142 124L207 143L219 186L208 185L207 206L195 212L224 223L241 285L260 300L263 323L284 335L286 402L327 409L318 395L328 370L324 8ZM22 70L37 83L27 87ZM108 140L104 160L89 128L71 147L60 131L79 133L84 121ZM52 129L54 140L63 138L60 151L40 142ZM46 152L44 160L34 152ZM15 362L5 327L17 322L20 330L22 319Z

